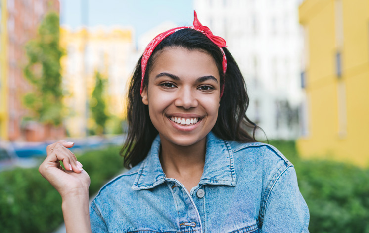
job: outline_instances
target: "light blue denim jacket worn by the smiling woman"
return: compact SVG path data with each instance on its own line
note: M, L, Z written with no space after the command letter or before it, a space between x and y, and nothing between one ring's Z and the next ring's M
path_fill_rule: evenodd
M276 148L213 133L206 143L204 172L188 193L165 176L157 137L141 163L103 186L92 201L92 232L308 232L309 210L295 170Z

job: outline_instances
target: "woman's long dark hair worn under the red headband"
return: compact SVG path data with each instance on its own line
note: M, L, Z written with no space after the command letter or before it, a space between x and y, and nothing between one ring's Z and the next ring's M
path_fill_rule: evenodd
M219 47L204 34L193 29L182 29L165 38L153 51L147 62L144 87L148 84L148 74L155 58L164 48L181 47L188 50L200 50L210 54L218 67L220 85L225 83L220 101L218 119L212 131L223 140L255 142L255 131L259 128L246 116L249 97L246 84L237 63L227 48L223 48L227 58L226 74L222 72L222 52ZM151 148L158 131L151 123L148 106L142 103L140 95L141 59L138 60L128 93L127 121L128 135L121 150L124 166L133 167L142 161ZM250 132L250 133L249 133ZM252 133L251 133L252 132Z

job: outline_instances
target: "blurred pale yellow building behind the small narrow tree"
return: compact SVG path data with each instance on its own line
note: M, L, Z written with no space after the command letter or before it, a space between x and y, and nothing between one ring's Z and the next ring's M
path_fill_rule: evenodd
M70 110L66 127L71 137L83 137L93 121L89 100L99 71L107 79L107 110L122 118L127 82L138 60L133 30L117 28L60 29L60 44L66 55L61 59L65 103Z

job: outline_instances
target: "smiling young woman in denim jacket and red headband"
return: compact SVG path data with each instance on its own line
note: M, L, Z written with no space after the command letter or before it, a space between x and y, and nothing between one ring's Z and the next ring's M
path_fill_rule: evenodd
M130 85L122 149L130 170L102 187L90 209L90 178L67 149L73 143L47 148L39 170L62 196L67 232L308 232L294 167L255 140L248 102L226 42L196 13L193 27L158 35Z

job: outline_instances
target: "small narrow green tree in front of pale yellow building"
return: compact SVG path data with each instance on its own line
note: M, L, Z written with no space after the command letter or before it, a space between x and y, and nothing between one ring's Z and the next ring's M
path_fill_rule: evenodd
M97 134L102 134L104 132L106 121L109 116L106 114L106 104L103 98L105 82L99 72L95 74L96 84L95 89L92 92L92 98L90 101L90 109L92 112L92 118L96 122Z

